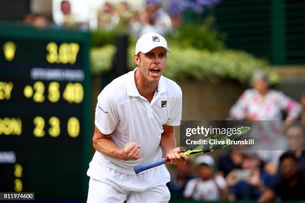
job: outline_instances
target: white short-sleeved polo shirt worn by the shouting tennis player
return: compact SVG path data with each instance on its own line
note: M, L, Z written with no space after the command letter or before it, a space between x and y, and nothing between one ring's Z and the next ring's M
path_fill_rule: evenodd
M152 102L140 95L135 72L131 71L112 81L98 96L95 125L124 148L127 142L142 146L138 160L123 161L95 152L88 175L98 173L96 164L103 164L117 172L135 174L134 167L161 158L162 125L180 124L182 91L173 81L161 76Z

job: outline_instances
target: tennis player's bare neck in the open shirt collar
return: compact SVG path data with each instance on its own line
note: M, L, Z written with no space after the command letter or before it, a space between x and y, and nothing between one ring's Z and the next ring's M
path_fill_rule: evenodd
M142 95L149 102L152 102L154 92L158 87L158 83L150 83L147 81L140 70L135 72L135 83L140 95Z

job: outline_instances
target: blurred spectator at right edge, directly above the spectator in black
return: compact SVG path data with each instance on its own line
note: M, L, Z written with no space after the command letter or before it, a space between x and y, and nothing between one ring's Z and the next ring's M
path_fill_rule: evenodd
M300 171L305 171L305 129L300 123L293 123L286 129L289 150L294 153L299 161Z

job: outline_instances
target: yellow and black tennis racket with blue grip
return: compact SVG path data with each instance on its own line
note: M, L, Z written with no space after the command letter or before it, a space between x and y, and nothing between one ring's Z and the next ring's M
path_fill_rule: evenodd
M211 135L210 137L206 138L205 140L207 140L207 143L209 143L210 139L217 139L218 141L226 140L226 139L238 140L241 137L251 133L250 127L240 127L240 130L241 130L240 134L232 133L231 136L226 136L224 134L216 134L216 135ZM212 151L215 151L218 149L222 149L227 146L229 146L229 144L197 144L197 145L193 145L193 146L189 147L188 149L186 149L184 152L181 152L181 153L185 154L186 156L189 156L191 154L203 154L203 153L212 152ZM141 166L136 166L134 168L134 171L136 174L139 174L142 171L165 164L167 162L170 162L170 159L168 157L164 157L164 158L154 160L150 163L147 163L147 164L144 164Z

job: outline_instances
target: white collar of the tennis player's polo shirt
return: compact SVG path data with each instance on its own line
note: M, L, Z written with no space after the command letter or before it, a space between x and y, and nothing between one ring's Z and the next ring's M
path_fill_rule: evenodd
M135 72L138 68L136 68L134 71L130 72L127 75L127 94L128 96L135 96L140 97L140 93L137 89L136 82L135 82ZM157 93L162 94L166 91L165 82L163 76L160 77L160 80L158 82L157 87Z

